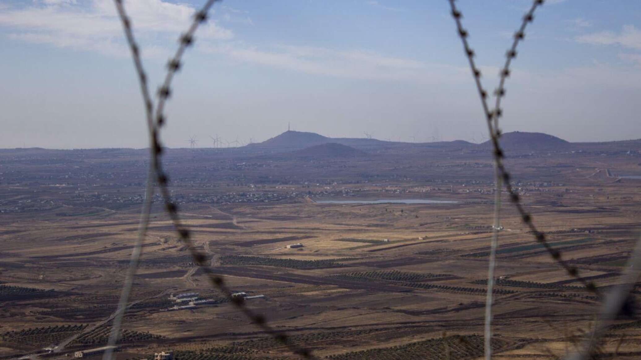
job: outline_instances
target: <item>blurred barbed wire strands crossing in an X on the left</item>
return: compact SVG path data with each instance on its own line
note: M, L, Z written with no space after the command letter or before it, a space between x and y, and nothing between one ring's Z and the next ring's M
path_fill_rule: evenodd
M163 113L165 103L167 102L167 99L169 99L169 96L171 95L171 81L176 74L176 72L180 69L181 67L181 58L183 54L185 53L185 50L187 49L188 46L192 45L194 42L194 33L196 32L198 26L200 24L203 24L207 20L207 14L212 7L213 3L216 3L217 1L220 0L208 0L201 10L197 11L196 14L194 15L194 21L188 28L188 31L181 35L179 38L179 47L178 50L176 51L176 54L174 54L174 57L169 60L169 63L167 64L167 76L165 76L165 81L163 82L163 85L159 88L158 90L158 106L156 108L155 113L152 113L153 109L153 102L151 101L151 98L149 97L149 92L147 91L147 78L145 76L144 69L142 67L142 61L140 61L140 50L138 48L138 45L135 42L135 38L133 37L133 32L131 31L131 21L126 15L126 12L124 10L124 6L122 5L122 0L114 0L119 17L121 17L122 21L122 26L124 28L124 32L129 44L129 47L131 49L131 55L133 57L133 61L135 63L135 69L137 70L138 73L138 80L140 82L140 86L142 89L142 94L143 94L143 101L145 103L145 108L147 111L147 125L149 129L149 139L150 139L150 171L153 171L154 174L154 179L156 183L158 184L158 188L160 189L160 194L162 195L163 202L165 204L165 209L167 210L167 213L169 214L169 218L171 219L172 224L174 225L174 229L176 230L176 233L178 233L179 238L185 245L187 246L187 249L189 250L192 258L194 259L194 263L196 263L199 268L201 268L204 272L204 274L207 276L207 279L210 281L212 286L217 288L219 291L221 291L233 304L236 306L251 322L256 324L262 331L266 332L274 340L279 341L285 347L288 348L292 353L297 354L304 359L318 359L317 357L313 356L311 350L300 347L299 345L296 345L296 343L292 343L289 341L289 338L287 334L283 331L277 331L276 329L272 328L267 324L267 319L265 316L260 315L258 313L254 313L252 309L249 309L247 307L245 299L243 297L233 297L232 296L232 291L231 289L228 288L228 286L225 284L225 281L221 275L217 275L213 272L213 270L206 264L207 261L207 256L206 254L199 252L196 247L194 246L194 243L192 242L191 239L191 234L190 231L187 229L187 227L181 222L180 217L178 215L178 206L174 204L171 200L171 194L169 193L169 178L167 177L167 174L164 172L162 168L162 161L161 161L161 156L163 154L163 147L162 143L160 142L160 135L158 133L160 127L162 127L165 122L165 115ZM151 113L151 115L150 115ZM155 120L155 121L154 121ZM147 183L147 188L149 189L150 187L153 187L153 184L151 181ZM149 190L146 191L146 193L149 192ZM151 196L149 197L151 200ZM149 208L146 208L147 211L147 218L149 217L149 211L151 211L151 206ZM147 219L148 221L148 219ZM146 227L142 226L141 222L141 229L144 229L146 231ZM144 238L144 232L142 233L142 237ZM132 255L132 261L131 264L133 264L133 255ZM137 265L137 262L136 262ZM127 286L128 282L125 282L125 286ZM131 286L129 284L129 286ZM123 294L125 294L125 291L123 291ZM126 293L128 295L128 292ZM124 300L126 304L127 299ZM118 330L115 330L115 339L117 339L118 336ZM110 352L109 356L106 356L104 359L108 360L111 359L112 353Z

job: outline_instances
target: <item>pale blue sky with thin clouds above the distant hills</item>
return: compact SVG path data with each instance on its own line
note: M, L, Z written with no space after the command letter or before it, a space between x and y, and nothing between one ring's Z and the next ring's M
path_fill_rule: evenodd
M155 88L202 1L128 0ZM528 0L459 0L488 90ZM526 32L504 131L641 138L641 3L546 1ZM0 147L144 147L112 0L0 1ZM487 131L445 0L227 0L174 83L163 138L326 136L480 141Z

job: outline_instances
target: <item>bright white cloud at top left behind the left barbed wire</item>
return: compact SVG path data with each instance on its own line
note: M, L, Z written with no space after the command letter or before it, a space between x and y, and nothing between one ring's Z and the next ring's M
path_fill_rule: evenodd
M173 42L185 31L196 10L187 4L162 0L136 0L126 3L135 35L145 56L163 53L162 40ZM98 51L126 56L120 20L112 0L42 0L22 7L5 8L0 26L14 40L49 44L56 47ZM159 37L160 35L160 37ZM199 29L199 38L229 39L233 33L213 21Z

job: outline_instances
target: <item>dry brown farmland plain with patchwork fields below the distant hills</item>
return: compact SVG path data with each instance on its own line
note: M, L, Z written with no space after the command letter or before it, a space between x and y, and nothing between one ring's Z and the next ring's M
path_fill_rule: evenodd
M638 236L641 180L626 176L641 174L640 145L508 147L513 184L535 222L603 291L618 283ZM173 149L172 196L213 271L233 291L264 295L248 306L317 356L481 356L494 197L488 147L353 146L362 153ZM137 235L146 155L0 151L0 358L58 358L106 343ZM594 325L601 299L533 241L510 204L502 225L495 357L562 356ZM287 248L295 243L303 247ZM172 294L192 292L211 301L167 311ZM604 357L641 357L638 314L610 328ZM123 329L120 359L158 350L179 360L296 358L208 284L157 195Z

